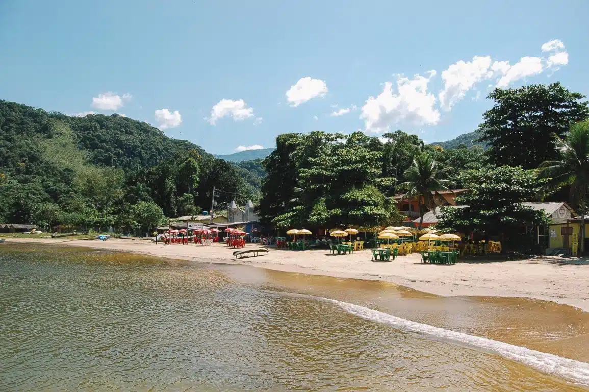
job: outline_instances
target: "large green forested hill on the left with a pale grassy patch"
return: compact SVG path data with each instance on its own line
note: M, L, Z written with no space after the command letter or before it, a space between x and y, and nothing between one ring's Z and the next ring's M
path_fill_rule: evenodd
M138 202L185 215L210 209L213 186L220 204L259 199L257 176L128 117L0 100L0 222L112 225Z

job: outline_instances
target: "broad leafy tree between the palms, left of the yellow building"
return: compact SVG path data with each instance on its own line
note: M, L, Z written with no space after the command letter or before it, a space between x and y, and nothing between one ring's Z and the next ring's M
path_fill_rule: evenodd
M522 229L548 222L543 212L521 205L537 200L545 185L535 170L511 166L466 170L461 181L468 190L456 197L456 203L466 207L442 207L436 228L485 233L487 239L502 236L502 248L507 250L529 248L533 238L525 243Z

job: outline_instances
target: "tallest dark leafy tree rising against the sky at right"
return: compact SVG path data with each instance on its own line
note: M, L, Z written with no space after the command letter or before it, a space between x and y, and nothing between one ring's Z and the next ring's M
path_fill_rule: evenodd
M560 83L528 85L488 95L495 106L483 115L479 141L487 141L489 160L496 166L535 169L557 153L551 135L563 137L571 124L589 117L585 95L572 93Z

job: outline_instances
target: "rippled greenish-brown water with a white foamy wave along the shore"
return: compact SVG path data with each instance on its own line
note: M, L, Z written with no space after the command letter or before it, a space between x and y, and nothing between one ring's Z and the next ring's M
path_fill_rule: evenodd
M588 347L550 302L0 245L2 391L574 391Z

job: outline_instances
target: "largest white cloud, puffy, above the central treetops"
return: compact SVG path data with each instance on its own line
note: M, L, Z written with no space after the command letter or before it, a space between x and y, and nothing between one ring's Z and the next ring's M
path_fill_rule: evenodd
M386 82L378 97L370 97L362 107L360 118L368 131L380 132L401 121L412 125L435 125L440 113L434 107L436 98L428 93L428 83L436 71L429 71L428 77L415 75L412 79L399 76L398 93L393 93L393 84Z

